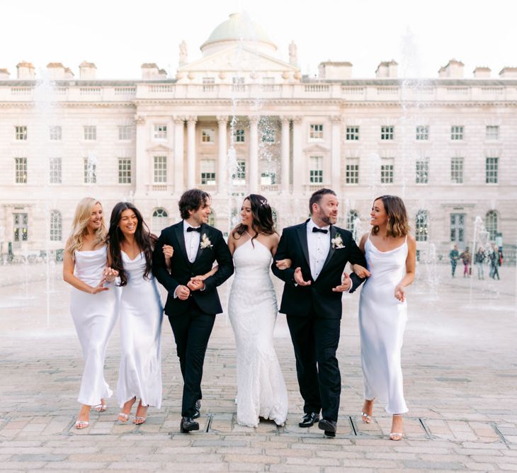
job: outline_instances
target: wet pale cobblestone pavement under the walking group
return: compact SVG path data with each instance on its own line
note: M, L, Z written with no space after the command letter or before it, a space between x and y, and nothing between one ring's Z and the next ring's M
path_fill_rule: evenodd
M343 304L343 391L334 439L297 426L302 400L283 315L275 346L290 398L285 427L261 421L252 429L235 422L234 339L222 315L205 361L199 432L179 433L181 374L166 320L162 409L149 409L142 426L121 425L112 398L108 411L92 412L90 427L76 431L81 350L60 268L50 268L49 283L41 280L46 271L44 266L0 268L0 470L517 471L515 268L501 268L501 281L479 281L451 280L445 265L419 267L419 280L409 292L402 351L410 411L400 442L387 439L391 419L382 406L375 406L370 425L358 416L358 295L345 296ZM228 285L223 300L227 290ZM112 386L119 346L117 327L106 358Z

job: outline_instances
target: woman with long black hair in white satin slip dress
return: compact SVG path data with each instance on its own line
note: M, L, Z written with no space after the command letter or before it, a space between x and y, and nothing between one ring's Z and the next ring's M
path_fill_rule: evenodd
M122 354L117 384L118 420L127 422L132 405L140 398L133 423L145 422L147 407L161 407L160 336L163 309L151 272L152 246L142 215L131 203L120 202L111 212L110 263L118 271L120 341Z

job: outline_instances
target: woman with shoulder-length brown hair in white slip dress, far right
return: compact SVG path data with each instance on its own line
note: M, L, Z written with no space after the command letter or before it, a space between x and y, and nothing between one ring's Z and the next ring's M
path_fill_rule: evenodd
M402 414L407 412L400 352L407 320L404 288L414 280L416 241L409 235L402 199L382 195L372 207L373 229L360 241L370 277L359 301L361 365L365 402L361 417L370 423L375 398L392 414L391 440L403 437Z

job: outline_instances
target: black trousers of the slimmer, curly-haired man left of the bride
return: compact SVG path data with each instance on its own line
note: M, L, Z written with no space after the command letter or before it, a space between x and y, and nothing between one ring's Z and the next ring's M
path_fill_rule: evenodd
M214 314L205 314L191 302L191 309L180 317L169 316L176 352L178 353L181 375L183 375L183 399L181 400L181 416L191 417L194 414L194 404L203 399L201 393L201 378L203 363L215 322Z

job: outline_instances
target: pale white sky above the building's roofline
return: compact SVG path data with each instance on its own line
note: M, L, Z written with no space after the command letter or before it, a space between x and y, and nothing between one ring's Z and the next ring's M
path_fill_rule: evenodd
M62 62L79 78L94 62L98 79L140 79L156 62L176 74L178 45L188 59L230 13L246 11L268 31L288 60L297 44L303 73L319 62L350 61L353 78L375 76L381 61L399 62L399 76L437 77L449 59L465 77L488 66L497 78L517 66L517 1L513 0L0 0L0 68L16 79L16 64L36 69ZM404 73L405 72L405 73Z

